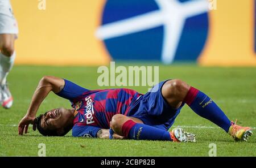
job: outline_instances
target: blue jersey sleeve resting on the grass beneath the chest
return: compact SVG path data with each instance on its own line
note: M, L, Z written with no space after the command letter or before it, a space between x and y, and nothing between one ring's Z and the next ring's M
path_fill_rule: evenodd
M97 137L97 132L101 130L99 127L94 126L73 126L72 136L75 137Z

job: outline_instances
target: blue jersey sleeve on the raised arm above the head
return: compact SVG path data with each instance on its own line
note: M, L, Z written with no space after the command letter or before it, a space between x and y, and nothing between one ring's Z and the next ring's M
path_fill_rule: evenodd
M58 96L66 98L70 101L74 100L75 98L81 96L84 92L88 92L90 90L80 87L79 85L72 83L71 81L64 79L65 85L64 88L59 92L56 93Z

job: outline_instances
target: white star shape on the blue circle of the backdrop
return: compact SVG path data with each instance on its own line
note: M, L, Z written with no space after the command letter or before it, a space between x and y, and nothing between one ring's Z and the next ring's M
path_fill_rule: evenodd
M107 40L164 25L162 61L172 63L185 19L208 12L209 2L207 0L183 3L177 0L155 0L155 2L160 10L102 25L96 31L96 37Z

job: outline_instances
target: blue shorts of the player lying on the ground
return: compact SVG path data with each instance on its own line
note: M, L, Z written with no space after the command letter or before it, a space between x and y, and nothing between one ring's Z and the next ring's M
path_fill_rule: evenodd
M155 85L151 89L154 92L149 91L140 97L131 109L136 110L136 112L130 117L141 119L144 124L166 131L169 130L180 113L181 108L184 106L184 103L178 109L174 109L168 104L161 92L166 81Z

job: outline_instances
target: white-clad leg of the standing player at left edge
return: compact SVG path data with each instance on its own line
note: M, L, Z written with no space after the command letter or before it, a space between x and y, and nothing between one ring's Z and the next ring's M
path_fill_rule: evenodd
M14 41L17 35L18 24L10 1L0 0L0 101L6 109L13 105L13 97L7 86L6 78L14 64Z

